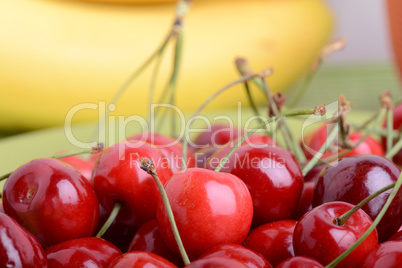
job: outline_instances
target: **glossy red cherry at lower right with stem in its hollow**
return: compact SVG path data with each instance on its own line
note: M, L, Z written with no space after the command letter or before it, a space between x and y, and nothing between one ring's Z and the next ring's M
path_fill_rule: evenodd
M297 256L313 258L323 265L353 245L373 223L362 210L355 212L344 225L334 219L353 208L352 204L335 201L324 203L307 212L296 224L293 247ZM342 262L339 267L357 267L378 243L377 231L373 232Z

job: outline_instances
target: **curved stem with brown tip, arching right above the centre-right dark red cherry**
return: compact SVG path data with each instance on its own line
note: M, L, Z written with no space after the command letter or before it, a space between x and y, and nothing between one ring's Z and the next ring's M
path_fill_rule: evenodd
M240 147L240 145L254 132L256 132L258 129L260 129L261 127L263 127L264 125L267 125L273 121L276 121L278 119L281 118L285 118L285 117L291 117L291 116L299 116L299 115L324 115L326 111L325 105L319 105L316 106L314 109L308 109L308 110L299 110L299 111L290 111L290 112L286 112L283 114L278 114L276 116L270 117L267 120L265 120L264 122L260 123L258 126L256 126L255 128L253 128L252 130L250 130L249 132L247 132L234 146L233 148L226 154L225 157L223 157L221 159L221 161L219 162L219 165L215 168L216 172L219 172L222 167L226 164L226 162L229 160L229 157L234 153L234 151Z

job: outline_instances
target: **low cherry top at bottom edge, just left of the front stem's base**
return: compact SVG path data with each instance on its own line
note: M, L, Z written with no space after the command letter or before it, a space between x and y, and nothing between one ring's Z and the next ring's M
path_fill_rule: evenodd
M108 268L127 267L177 268L176 265L156 254L142 251L124 253L108 266Z

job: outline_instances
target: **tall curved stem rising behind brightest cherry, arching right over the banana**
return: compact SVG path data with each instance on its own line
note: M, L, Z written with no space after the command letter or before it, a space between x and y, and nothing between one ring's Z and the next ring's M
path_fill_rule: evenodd
M195 118L201 113L201 111L207 106L212 100L214 100L219 94L222 92L226 91L227 89L239 84L239 83L244 83L245 81L248 81L254 77L258 77L260 74L249 74L245 75L229 84L226 86L222 87L218 91L216 91L212 96L210 96L200 107L198 107L197 111L193 114L192 117L190 117L188 124L186 125L186 128L184 130L184 139L183 139L183 150L182 150L182 161L181 161L181 169L186 169L187 168L187 147L188 147L188 142L187 142L187 137L188 137L188 130L190 129L191 124L194 122Z

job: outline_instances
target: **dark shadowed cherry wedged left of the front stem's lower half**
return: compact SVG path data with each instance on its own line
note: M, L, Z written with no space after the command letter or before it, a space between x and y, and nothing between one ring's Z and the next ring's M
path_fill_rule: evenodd
M163 241L156 219L144 223L135 233L127 251L155 253L177 266L183 266L182 259L174 254Z

